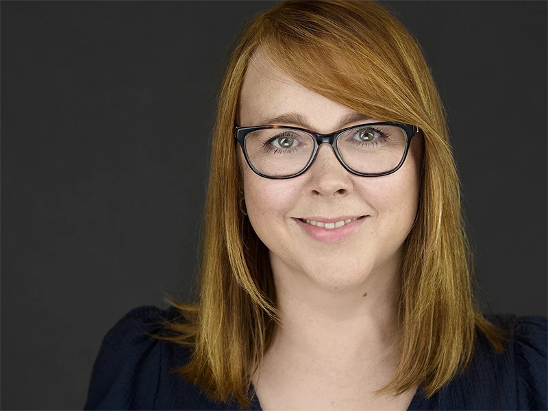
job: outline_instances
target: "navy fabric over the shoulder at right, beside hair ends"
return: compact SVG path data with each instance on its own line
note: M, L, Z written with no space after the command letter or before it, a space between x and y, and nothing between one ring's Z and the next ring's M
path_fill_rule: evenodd
M437 393L438 405L451 410L548 410L548 319L513 314L485 318L508 334L504 350L496 351L478 329L471 362Z

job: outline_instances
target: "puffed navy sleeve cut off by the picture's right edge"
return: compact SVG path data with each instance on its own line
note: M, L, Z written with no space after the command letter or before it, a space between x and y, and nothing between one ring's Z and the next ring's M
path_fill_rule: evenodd
M548 318L522 316L514 324L519 410L548 410Z

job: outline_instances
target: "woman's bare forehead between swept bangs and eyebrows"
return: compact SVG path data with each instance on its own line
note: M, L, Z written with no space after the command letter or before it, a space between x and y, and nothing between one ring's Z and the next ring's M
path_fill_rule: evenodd
M356 113L302 86L257 51L244 76L239 101L239 125L258 125L262 119L295 112L317 129L331 129L332 117ZM329 116L326 117L326 113Z

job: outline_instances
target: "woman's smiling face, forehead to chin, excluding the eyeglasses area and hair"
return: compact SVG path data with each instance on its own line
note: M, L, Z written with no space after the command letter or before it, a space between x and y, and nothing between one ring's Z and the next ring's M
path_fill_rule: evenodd
M304 88L256 53L242 85L238 125L260 125L263 119L289 113L322 134L375 121L341 123L358 113ZM295 121L276 123L308 128ZM322 144L305 173L266 179L253 173L238 145L249 221L269 248L274 274L297 275L326 290L343 290L371 275L395 273L419 201L421 142L416 137L411 141L401 169L382 177L349 173L332 147ZM364 217L336 229L300 220L331 222L360 216Z

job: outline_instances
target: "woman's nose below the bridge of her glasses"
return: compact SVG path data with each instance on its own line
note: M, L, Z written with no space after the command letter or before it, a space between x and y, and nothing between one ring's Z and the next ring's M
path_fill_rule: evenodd
M325 197L348 195L353 190L351 173L340 164L333 147L321 144L314 163L307 171L312 179L312 190Z

